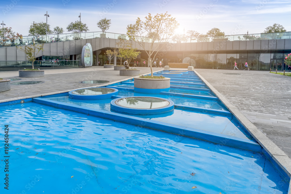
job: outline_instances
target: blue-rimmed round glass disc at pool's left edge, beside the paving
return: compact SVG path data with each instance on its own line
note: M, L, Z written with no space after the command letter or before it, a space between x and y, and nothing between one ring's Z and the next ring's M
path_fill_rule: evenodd
M69 97L74 99L99 100L111 98L111 96L117 94L118 90L114 88L84 88L70 91Z

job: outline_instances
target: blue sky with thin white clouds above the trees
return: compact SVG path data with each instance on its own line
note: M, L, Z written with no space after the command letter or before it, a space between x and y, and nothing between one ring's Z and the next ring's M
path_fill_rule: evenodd
M51 29L60 26L65 33L70 22L79 20L80 12L81 21L90 32L100 31L96 23L106 17L111 19L107 32L126 33L127 24L134 23L137 17L143 19L148 13L166 11L180 23L177 33L183 33L183 29L206 33L214 27L227 35L261 33L274 23L291 31L291 0L2 0L0 20L13 31L28 35L33 21L46 22L46 11Z

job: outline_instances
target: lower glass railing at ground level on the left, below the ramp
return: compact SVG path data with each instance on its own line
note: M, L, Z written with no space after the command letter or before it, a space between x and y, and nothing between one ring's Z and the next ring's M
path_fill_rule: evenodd
M79 68L79 60L36 60L33 63L34 69L66 69ZM0 61L0 71L17 71L31 69L31 61Z

